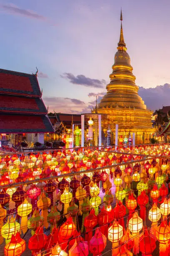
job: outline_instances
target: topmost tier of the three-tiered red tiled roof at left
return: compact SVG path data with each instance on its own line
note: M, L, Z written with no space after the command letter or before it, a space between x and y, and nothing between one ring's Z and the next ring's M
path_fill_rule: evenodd
M37 77L6 69L0 69L0 92L41 97Z

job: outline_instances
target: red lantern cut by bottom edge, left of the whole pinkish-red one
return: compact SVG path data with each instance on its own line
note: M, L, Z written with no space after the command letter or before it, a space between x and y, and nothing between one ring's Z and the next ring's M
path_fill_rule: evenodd
M88 243L85 241L81 241L81 238L78 237L75 239L75 243L69 250L69 256L88 256L89 255L89 249L88 249Z

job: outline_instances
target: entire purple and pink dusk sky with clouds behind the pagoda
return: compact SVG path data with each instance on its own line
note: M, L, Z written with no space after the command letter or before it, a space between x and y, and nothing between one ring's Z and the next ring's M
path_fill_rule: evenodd
M169 0L0 1L0 67L37 66L49 110L89 111L112 72L120 7L140 96L151 110L170 105Z

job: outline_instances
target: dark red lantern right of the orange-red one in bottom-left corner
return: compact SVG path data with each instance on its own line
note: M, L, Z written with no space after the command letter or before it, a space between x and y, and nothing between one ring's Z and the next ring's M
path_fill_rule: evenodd
M45 248L47 236L43 232L43 227L38 227L35 234L28 241L28 248L33 253L39 253L42 248Z

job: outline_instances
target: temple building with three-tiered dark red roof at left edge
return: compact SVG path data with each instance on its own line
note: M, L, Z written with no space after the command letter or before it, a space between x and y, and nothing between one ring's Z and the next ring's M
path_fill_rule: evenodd
M43 144L44 134L53 132L37 74L0 69L0 141Z

